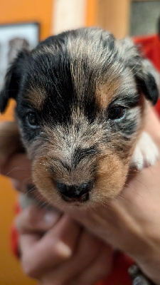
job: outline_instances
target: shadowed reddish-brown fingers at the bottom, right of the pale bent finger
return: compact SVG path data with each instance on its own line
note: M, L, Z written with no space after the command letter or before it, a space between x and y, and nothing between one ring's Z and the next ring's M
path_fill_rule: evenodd
M78 248L72 259L68 259L60 266L57 266L56 270L50 271L46 276L43 276L43 279L41 279L42 284L81 285L83 281L86 285L92 284L99 278L106 276L108 257L106 254L108 252L110 252L108 247L107 250L104 250L104 244L100 240L83 230L78 239Z

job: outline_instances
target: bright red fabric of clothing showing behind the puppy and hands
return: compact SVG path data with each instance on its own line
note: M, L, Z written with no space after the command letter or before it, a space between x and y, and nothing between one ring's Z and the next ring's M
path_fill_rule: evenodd
M142 46L144 55L151 60L156 69L160 71L160 40L158 36L145 36L134 38L135 43ZM160 101L156 104L156 111L160 115ZM20 212L19 207L16 212ZM15 227L12 227L11 248L18 256L18 233ZM127 274L129 266L133 264L132 259L121 252L114 255L114 264L112 274L103 281L99 281L97 285L131 285L131 280Z

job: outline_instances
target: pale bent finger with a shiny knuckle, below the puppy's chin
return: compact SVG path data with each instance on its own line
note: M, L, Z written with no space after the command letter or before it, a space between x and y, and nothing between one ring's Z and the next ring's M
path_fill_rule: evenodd
M33 278L39 278L46 271L70 258L75 250L80 227L67 216L46 234L21 234L21 261L23 271Z

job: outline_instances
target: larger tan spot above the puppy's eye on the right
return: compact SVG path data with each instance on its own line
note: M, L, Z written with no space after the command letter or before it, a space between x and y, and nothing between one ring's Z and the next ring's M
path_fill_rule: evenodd
M114 100L114 97L118 95L118 91L122 86L122 80L110 76L110 78L104 84L100 84L96 88L95 96L97 104L102 110L105 110L108 105Z

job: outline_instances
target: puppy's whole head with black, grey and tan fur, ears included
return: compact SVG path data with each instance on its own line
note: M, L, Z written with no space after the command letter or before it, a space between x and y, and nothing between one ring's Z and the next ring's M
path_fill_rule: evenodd
M6 75L1 112L15 98L33 182L46 199L105 203L122 190L158 90L129 39L96 28L51 36L21 51Z

